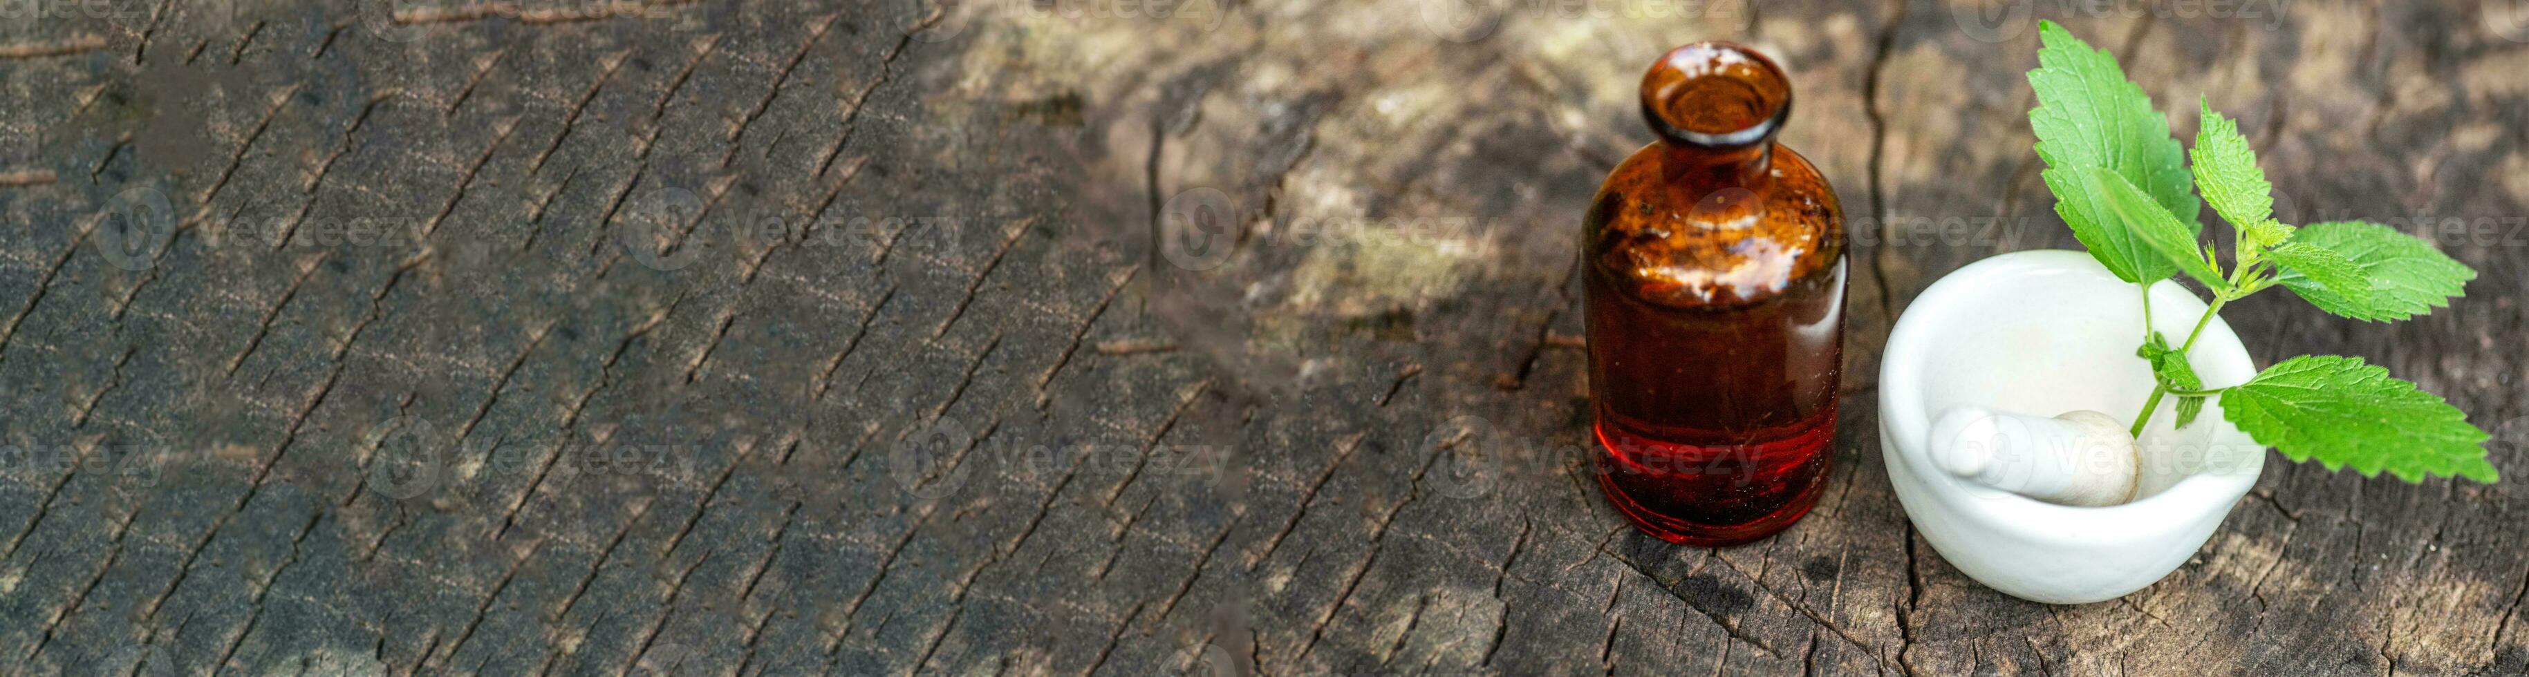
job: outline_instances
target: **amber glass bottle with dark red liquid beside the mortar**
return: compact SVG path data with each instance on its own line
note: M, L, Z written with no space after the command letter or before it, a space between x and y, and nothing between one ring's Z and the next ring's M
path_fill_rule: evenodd
M1775 144L1791 83L1732 43L1641 78L1659 141L1608 172L1583 225L1598 485L1672 543L1783 530L1834 460L1844 210Z

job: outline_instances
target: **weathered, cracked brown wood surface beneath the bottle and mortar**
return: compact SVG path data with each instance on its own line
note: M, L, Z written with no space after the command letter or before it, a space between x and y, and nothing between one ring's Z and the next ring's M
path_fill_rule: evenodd
M2238 116L2286 217L2483 227L2433 230L2483 275L2428 318L2226 318L2446 394L2514 480L2274 460L2086 606L1920 543L1889 321L2074 245L2026 15L132 0L0 28L0 672L2529 669L2529 13L2033 5L2183 136ZM1727 551L1573 455L1571 230L1694 38L1785 61L1856 217L1834 493ZM1171 255L1191 207L1237 248Z

